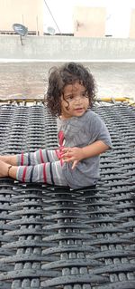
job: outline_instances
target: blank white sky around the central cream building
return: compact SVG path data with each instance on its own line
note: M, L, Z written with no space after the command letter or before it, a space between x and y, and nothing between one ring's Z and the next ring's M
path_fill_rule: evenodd
M49 14L49 10L53 15ZM44 32L53 27L55 33L73 34L74 6L106 7L105 34L113 37L128 37L130 30L130 11L135 8L135 0L44 0ZM56 23L57 24L56 24Z

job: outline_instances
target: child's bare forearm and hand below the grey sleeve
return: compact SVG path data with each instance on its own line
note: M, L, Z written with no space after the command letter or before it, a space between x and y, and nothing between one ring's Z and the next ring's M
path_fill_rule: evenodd
M64 148L62 159L64 159L66 162L72 161L72 169L74 169L79 160L95 157L107 149L109 149L109 146L106 145L102 140L96 140L94 143L84 148Z

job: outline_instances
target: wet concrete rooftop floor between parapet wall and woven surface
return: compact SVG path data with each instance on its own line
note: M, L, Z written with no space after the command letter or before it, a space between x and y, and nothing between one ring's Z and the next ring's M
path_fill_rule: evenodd
M0 63L0 99L43 98L49 69L62 62ZM129 97L135 101L135 63L85 62L94 75L97 97Z

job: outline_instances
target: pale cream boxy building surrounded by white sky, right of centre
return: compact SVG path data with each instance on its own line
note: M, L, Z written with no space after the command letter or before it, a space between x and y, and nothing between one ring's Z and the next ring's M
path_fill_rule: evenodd
M103 7L74 7L74 36L103 37L106 9Z

